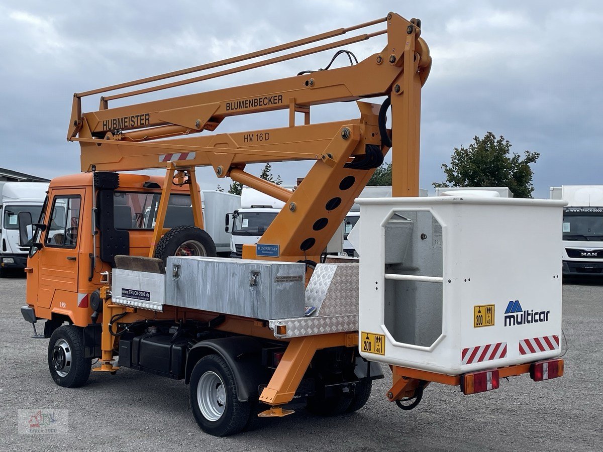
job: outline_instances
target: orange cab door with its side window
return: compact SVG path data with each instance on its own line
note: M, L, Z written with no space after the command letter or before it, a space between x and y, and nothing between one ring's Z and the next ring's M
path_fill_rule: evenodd
M52 190L50 215L42 234L37 304L72 310L77 306L81 207L84 189Z

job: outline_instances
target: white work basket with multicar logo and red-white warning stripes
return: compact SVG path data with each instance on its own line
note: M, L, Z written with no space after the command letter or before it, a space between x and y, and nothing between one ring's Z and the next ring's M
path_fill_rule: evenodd
M560 354L564 201L356 202L366 359L459 375Z

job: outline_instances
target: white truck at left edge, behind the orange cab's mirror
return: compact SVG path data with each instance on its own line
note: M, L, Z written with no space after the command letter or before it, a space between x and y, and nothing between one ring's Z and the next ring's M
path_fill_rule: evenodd
M0 276L7 269L22 269L27 263L28 246L19 245L19 212L40 217L48 183L0 182Z

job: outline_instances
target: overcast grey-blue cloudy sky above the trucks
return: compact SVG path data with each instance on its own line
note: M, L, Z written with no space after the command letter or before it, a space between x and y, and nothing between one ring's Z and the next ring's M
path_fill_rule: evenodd
M561 184L603 184L603 3L600 1L2 1L0 167L42 177L80 171L66 142L71 97L195 66L395 11L419 17L434 60L423 87L420 186L443 181L455 146L486 131L512 150L540 152L536 197ZM379 27L374 28L376 30ZM347 36L346 36L347 37ZM385 38L349 46L366 58ZM333 51L201 82L145 99L289 77ZM338 63L346 63L341 58ZM380 101L380 99L376 99ZM118 105L118 104L113 104ZM96 110L98 98L84 104ZM314 110L313 110L314 111ZM317 108L312 121L358 117L353 103ZM286 110L229 118L217 131L282 127ZM310 163L278 163L285 184ZM259 167L251 168L259 174ZM219 181L200 171L204 189Z

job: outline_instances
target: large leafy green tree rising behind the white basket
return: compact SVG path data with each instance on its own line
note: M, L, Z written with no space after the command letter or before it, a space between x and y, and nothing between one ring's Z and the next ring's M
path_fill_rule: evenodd
M501 135L487 132L473 137L468 148L454 148L450 165L442 164L446 182L434 187L508 187L516 198L531 198L532 168L538 152L524 151L522 157L511 152L511 143Z

